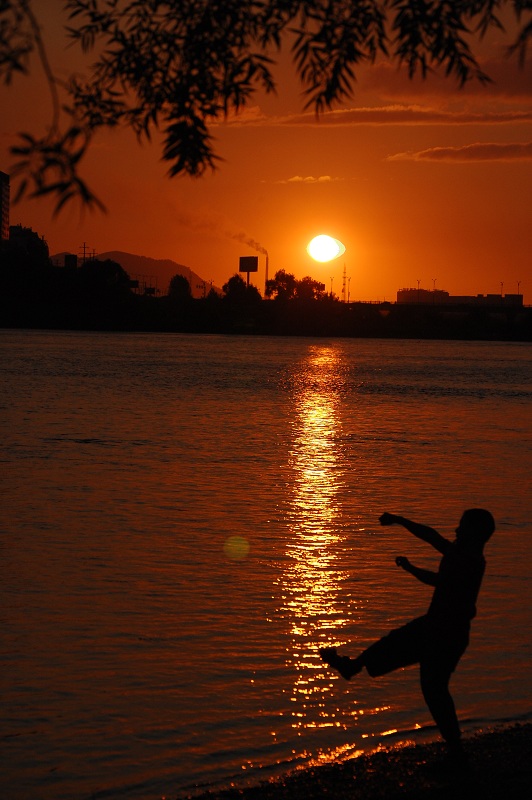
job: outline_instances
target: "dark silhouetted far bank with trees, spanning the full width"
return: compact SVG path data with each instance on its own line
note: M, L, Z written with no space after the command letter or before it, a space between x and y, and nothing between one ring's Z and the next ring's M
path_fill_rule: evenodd
M532 341L528 308L450 309L342 303L313 278L279 270L266 299L238 274L203 298L183 275L168 293L139 294L115 261L57 267L45 240L15 226L0 248L0 327L183 333Z

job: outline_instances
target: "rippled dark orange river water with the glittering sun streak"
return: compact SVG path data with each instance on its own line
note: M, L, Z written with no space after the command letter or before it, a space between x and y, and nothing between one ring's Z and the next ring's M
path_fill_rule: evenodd
M183 797L435 736L385 510L498 530L453 679L466 730L530 716L532 347L0 332L0 789Z

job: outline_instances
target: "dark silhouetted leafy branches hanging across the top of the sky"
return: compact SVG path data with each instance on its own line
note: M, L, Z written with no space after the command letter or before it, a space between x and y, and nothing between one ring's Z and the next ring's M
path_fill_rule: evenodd
M524 0L66 0L68 36L95 60L86 76L63 82L48 62L35 7L0 3L0 77L9 84L28 74L37 52L52 121L40 138L21 134L12 174L21 176L18 197L52 195L57 210L74 197L101 206L78 170L102 127L124 125L139 139L161 130L171 176L214 168L210 126L258 89L274 90L282 45L291 47L307 107L319 113L350 97L355 69L379 54L410 76L441 69L459 84L485 82L471 43L491 26L503 30L503 8L520 24L509 46L520 60L532 32Z

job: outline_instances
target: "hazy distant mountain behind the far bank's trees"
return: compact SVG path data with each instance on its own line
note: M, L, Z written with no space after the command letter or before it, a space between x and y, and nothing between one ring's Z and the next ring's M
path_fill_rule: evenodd
M51 258L54 263L63 264L64 256L65 253L58 253ZM177 261L172 261L170 258L149 258L148 256L137 256L133 253L123 253L121 250L98 253L96 258L100 260L109 258L111 261L116 261L125 269L132 280L139 280L145 283L146 286L155 287L163 294L167 291L168 284L174 275L183 275L188 280L193 297L203 297L204 292L208 294L211 288L210 283L200 278L190 267L178 264ZM217 286L212 288L221 294L221 289Z

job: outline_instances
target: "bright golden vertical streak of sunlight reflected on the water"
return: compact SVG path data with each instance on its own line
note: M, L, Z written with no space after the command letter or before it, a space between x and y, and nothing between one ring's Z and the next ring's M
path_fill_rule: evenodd
M345 463L340 447L341 352L312 346L294 380L294 430L290 466L293 494L287 513L290 538L280 578L280 612L289 622L287 665L294 673L292 726L340 726L327 703L335 678L324 668L320 646L342 643L349 621L339 569L344 546L340 492Z

